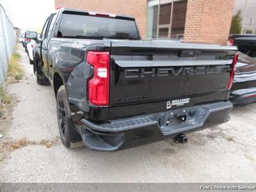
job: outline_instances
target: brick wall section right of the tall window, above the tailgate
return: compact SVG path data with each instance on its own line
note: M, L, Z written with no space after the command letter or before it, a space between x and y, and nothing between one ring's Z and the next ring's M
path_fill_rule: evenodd
M234 0L188 0L184 41L227 44Z

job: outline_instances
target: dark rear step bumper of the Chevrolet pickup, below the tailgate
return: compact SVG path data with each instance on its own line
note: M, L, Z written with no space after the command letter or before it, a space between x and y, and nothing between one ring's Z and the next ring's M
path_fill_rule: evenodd
M161 136L175 136L202 127L212 116L213 122L217 124L227 122L228 113L232 107L230 101L215 102L136 118L114 120L108 124L95 124L83 119L81 120L83 124L81 136L87 147L110 152L118 150L126 142L127 131L134 132L143 129L143 134L146 134L148 127L153 127Z

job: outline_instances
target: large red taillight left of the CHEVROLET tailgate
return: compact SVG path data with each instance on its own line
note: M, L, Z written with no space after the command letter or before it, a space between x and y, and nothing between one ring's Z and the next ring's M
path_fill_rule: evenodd
M87 62L94 68L88 83L88 97L96 106L109 105L109 52L89 51Z

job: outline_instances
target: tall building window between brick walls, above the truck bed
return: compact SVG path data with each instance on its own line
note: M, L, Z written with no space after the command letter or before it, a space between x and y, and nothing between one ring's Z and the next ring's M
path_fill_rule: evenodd
M182 38L188 0L149 0L147 38Z

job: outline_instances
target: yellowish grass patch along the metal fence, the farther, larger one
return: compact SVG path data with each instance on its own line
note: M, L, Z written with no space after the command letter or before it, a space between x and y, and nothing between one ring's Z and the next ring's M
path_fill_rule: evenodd
M8 77L10 79L9 83L13 81L21 80L24 76L24 70L20 67L20 54L14 51L12 53L10 64L8 65Z

